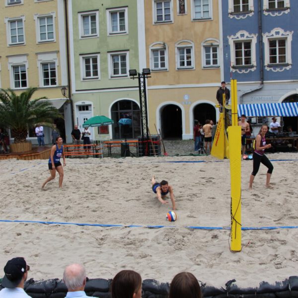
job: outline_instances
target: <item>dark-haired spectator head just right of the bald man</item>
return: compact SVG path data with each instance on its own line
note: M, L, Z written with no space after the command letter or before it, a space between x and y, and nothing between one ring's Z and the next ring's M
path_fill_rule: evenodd
M132 298L141 286L142 278L139 273L133 270L122 270L112 281L112 298Z

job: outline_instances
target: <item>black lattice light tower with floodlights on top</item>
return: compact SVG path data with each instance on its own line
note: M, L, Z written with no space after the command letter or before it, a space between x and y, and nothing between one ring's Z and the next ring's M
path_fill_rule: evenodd
M150 77L150 69L143 69L142 73L138 73L137 70L129 70L129 75L132 79L135 76L139 81L139 96L140 96L140 112L141 112L141 136L142 142L148 142L149 140L149 128L148 128L148 112L147 112L147 90L146 90L146 78ZM144 143L143 143L144 145ZM143 146L144 148L144 146ZM145 154L148 155L148 150L145 150Z

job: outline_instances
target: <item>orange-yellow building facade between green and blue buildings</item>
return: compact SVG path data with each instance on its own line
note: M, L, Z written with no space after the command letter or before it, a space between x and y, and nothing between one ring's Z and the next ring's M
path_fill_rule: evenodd
M147 0L145 30L149 128L193 138L194 120L219 117L222 49L217 0Z

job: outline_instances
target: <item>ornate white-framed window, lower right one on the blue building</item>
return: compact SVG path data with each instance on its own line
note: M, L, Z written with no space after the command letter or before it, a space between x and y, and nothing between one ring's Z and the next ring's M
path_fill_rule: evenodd
M265 69L267 71L276 70L276 65L281 66L278 71L289 70L292 67L292 35L294 31L284 31L281 28L275 28L271 32L263 33Z

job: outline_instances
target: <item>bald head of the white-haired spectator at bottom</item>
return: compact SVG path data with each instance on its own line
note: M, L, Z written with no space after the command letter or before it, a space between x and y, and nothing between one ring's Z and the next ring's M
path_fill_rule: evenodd
M69 292L84 291L86 285L86 270L80 264L72 264L65 268L63 281Z

